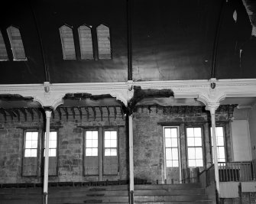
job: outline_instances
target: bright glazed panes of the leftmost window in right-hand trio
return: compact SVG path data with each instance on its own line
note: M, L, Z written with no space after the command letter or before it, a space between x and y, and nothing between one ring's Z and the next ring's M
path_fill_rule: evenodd
M179 167L177 128L164 128L166 167Z

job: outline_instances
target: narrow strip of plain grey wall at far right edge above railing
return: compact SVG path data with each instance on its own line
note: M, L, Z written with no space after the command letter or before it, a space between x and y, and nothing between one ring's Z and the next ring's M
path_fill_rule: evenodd
M251 155L256 159L256 104L254 104L249 113L249 128L251 136Z

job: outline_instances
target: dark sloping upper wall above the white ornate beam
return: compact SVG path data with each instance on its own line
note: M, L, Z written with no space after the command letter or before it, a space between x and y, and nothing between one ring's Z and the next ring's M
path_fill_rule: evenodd
M133 79L173 80L211 78L212 48L222 0L131 1ZM115 82L128 79L125 0L31 1L41 31L50 83ZM0 28L21 29L28 61L0 62L0 83L43 83L44 63L31 5L8 2ZM255 78L255 37L241 0L225 1L216 78ZM235 22L233 12L237 11ZM59 28L107 24L112 37L112 60L63 60ZM95 30L93 30L95 31ZM96 34L94 34L96 37ZM10 47L9 44L6 44ZM10 49L8 49L10 51ZM240 50L242 51L240 59ZM11 56L11 53L9 53Z

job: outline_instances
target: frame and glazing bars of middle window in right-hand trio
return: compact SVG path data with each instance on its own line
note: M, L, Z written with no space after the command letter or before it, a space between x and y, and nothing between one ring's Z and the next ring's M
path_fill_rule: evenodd
M187 128L200 128L201 129L201 144L202 144L201 146L188 146ZM200 167L205 167L205 163L206 162L205 162L205 151L204 151L204 131L203 131L203 125L187 125L187 126L185 126L185 135L186 135L186 162L187 162L187 167L189 167L189 168L196 168L196 167L198 167L198 166L191 166L190 167L190 162L189 162L190 159L189 159L189 154L188 154L189 147L194 147L194 148L200 147L202 149L203 166L200 166ZM195 138L195 137L193 137L193 138ZM193 160L196 160L196 158L193 159Z

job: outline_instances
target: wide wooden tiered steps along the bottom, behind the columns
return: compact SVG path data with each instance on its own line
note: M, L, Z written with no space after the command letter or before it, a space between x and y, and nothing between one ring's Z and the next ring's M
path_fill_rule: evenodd
M40 204L42 189L0 189L0 204ZM128 204L128 185L119 186L65 186L50 187L48 204ZM175 185L136 185L135 204L193 204L214 203L198 183Z

